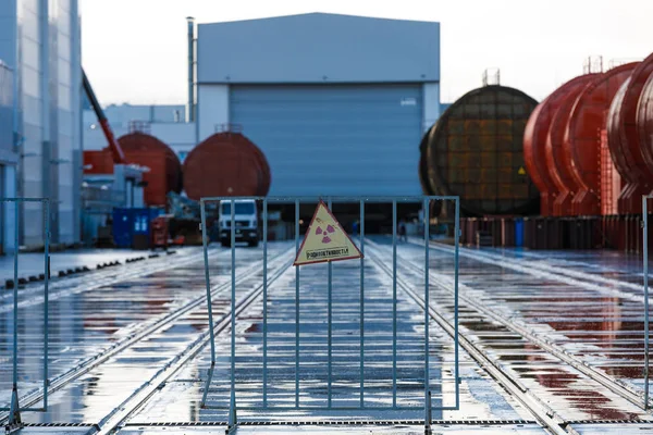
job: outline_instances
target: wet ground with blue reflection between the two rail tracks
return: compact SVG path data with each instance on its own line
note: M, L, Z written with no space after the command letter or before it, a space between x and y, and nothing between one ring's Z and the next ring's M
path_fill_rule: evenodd
M397 405L415 407L397 411L374 410L392 406L392 281L372 263L365 273L365 393L366 409L330 410L328 402L328 287L326 266L303 268L300 273L299 406L295 396L295 271L286 271L270 286L268 297L268 407L262 408L262 300L237 320L236 391L241 421L423 419L423 312L405 294L397 295ZM360 406L360 304L357 263L333 264L332 407ZM430 324L430 385L434 407L452 406L454 382L452 340L436 324ZM230 340L218 345L222 356L215 369L207 405L200 409L201 381L210 364L209 355L169 382L165 388L134 417L134 422L224 421L230 399ZM447 356L447 357L444 357ZM443 358L444 357L444 358ZM507 401L494 383L468 357L461 364L460 413L470 419L520 420L522 410ZM192 412L178 406L190 403ZM306 409L317 407L317 410ZM517 409L516 409L517 408ZM434 410L433 418L443 418Z

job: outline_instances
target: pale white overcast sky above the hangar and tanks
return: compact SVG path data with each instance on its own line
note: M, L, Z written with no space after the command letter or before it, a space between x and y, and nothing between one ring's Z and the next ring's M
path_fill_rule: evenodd
M187 28L197 23L331 12L441 23L443 102L501 83L537 100L581 74L588 55L653 52L653 0L79 0L82 61L104 104L185 103ZM334 29L336 32L336 29Z

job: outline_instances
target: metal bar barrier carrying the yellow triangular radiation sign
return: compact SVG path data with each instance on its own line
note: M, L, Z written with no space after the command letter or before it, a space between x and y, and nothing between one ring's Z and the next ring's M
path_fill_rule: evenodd
M402 410L414 410L414 411L423 411L424 423L427 427L429 427L431 422L431 411L432 410L458 410L459 409L459 357L458 357L458 240L460 235L459 229L459 199L458 197L390 197L390 198L370 198L370 197L326 197L324 198L329 204L329 209L331 206L335 203L349 203L349 204L359 204L360 215L359 215L359 250L364 253L360 258L360 269L359 269L359 337L358 337L358 346L360 346L360 377L357 386L357 395L358 395L358 405L357 406L347 406L347 407L333 407L332 406L332 385L333 385L333 371L332 371L332 362L333 362L333 353L332 353L332 331L333 331L333 299L332 299L332 289L333 289L333 269L332 262L328 262L328 371L329 376L326 380L326 406L325 407L316 407L315 405L304 405L299 400L300 398L300 366L299 366L299 344L300 344L300 323L299 323L299 308L300 308L300 298L299 298L299 289L300 289L300 270L299 266L295 269L295 352L294 352L294 365L295 365L295 378L294 378L294 403L293 405L271 405L270 397L268 395L269 389L269 364L268 364L268 290L269 290L269 278L268 278L268 206L270 203L274 204L294 204L295 210L295 248L299 251L300 248L300 213L299 207L301 203L318 203L321 201L321 198L307 198L307 197L215 197L215 198L201 198L200 200L200 213L201 213L201 228L202 228L202 245L204 245L204 259L205 259L205 278L206 278L206 288L207 288L207 307L208 307L208 315L209 315L209 327L210 327L210 347L211 347L211 366L208 372L208 378L205 386L205 391L201 399L201 407L207 409L229 409L229 427L230 430L237 425L236 419L236 409L241 410L251 410L251 411L283 411L283 410L337 410L337 411L402 411ZM235 201L239 200L254 200L260 202L262 204L262 406L260 407L238 407L236 403L236 221L235 221ZM215 337L214 337L214 324L213 324L213 313L212 313L212 298L211 298L211 283L210 283L210 272L209 272L209 262L208 262L208 228L207 228L207 213L206 213L206 204L210 202L231 202L231 219L230 224L225 225L226 228L230 229L231 236L231 376L230 376L230 405L226 407L215 407L215 406L207 406L207 395L209 391L209 386L211 385L213 371L215 369ZM430 365L429 365L429 325L431 324L430 313L428 309L423 310L423 322L424 322L424 333L423 333L423 370L424 370L424 378L423 378L423 406L399 406L397 405L397 203L402 202L412 202L420 203L422 206L423 214L423 231L420 232L423 234L424 239L424 270L423 270L423 302L424 307L429 307L429 251L430 251L430 235L429 235L429 209L431 206L431 201L453 201L455 203L455 229L454 229L454 240L455 240L455 257L454 257L454 266L455 266L455 284L454 284L454 349L455 349L455 360L453 368L453 372L455 373L454 384L455 384L455 406L440 406L432 407L431 399L431 388L430 388ZM366 204L367 203L392 203L392 214L393 214L393 231L392 231L392 294L393 294L393 344L392 344L392 360L393 360L393 370L392 370L392 407L370 407L366 406L365 402L365 363L366 363L366 355L365 355L365 344L366 344L366 330L365 330L365 303L366 303L366 288L365 288L365 265L366 261L369 259L365 258L365 222L366 222ZM309 226L310 229L310 226ZM390 268L387 268L390 271ZM357 316L358 316L357 315ZM390 389L390 383L387 383L387 387ZM390 399L389 399L390 400ZM229 432L229 431L227 431Z

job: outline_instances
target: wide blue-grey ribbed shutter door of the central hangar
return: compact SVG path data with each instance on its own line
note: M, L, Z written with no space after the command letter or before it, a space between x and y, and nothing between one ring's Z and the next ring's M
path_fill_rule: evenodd
M232 86L271 196L420 195L421 85Z

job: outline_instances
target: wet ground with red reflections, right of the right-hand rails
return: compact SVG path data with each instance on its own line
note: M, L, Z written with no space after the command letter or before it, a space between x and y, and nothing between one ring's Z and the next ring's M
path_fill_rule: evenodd
M401 254L420 263L423 249L403 247ZM592 256L587 253L581 258L590 261ZM617 260L612 256L606 257L606 262L617 266ZM430 265L435 273L451 275L453 256L432 250ZM574 266L577 265L575 262ZM555 279L543 281L537 274L533 276L469 257L460 258L459 276L465 291L483 300L485 308L529 325L533 332L605 373L633 386L643 385L643 300L638 303L631 299L606 297L592 286L579 288ZM515 333L490 318L466 312L461 313L460 324L478 338L478 344L518 372L526 384L532 380L534 385L546 388L542 390L543 395L564 398L564 401L552 398L551 402L559 402L565 417L570 415L572 420L648 417L604 389L588 389L580 373L569 368L560 369L558 359L519 336L515 339ZM512 337L509 341L502 339L497 344L495 337L488 336L490 332ZM553 408L557 410L558 406Z

